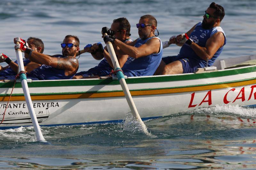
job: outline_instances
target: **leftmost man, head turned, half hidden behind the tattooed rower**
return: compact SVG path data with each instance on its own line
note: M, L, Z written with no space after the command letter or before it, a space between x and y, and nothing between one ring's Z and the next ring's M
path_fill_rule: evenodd
M17 38L17 39L19 39L19 38ZM34 50L38 53L43 53L44 52L44 43L39 38L29 37L27 41L24 41L22 39L19 39L17 41L23 41L23 43L26 43L26 46L28 46L29 48L31 48L32 50ZM18 73L17 60L13 62L8 56L6 56L4 54L0 54L0 56L4 56L3 58L0 57L0 63L6 62L8 64L8 66L6 66L6 67L1 67L0 66L0 68L1 68L1 70L0 70L0 80L15 79L15 76ZM25 59L23 59L23 63L24 63L24 69L28 73L30 71L38 68L39 66L41 66L41 64L34 63L34 62L30 61L28 59L28 54L25 54Z

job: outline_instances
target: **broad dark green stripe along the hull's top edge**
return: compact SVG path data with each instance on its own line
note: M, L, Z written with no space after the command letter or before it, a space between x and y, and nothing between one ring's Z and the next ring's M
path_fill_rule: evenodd
M125 79L127 84L137 83L156 83L156 82L170 82L182 80L196 80L202 78L216 78L223 76L238 75L256 71L255 67L242 68L236 70L224 70L209 73L188 74L188 75L174 75L174 76L160 76L160 77L138 77ZM244 81L244 80L243 80ZM0 83L0 88L11 88L14 82ZM225 82L226 83L226 82ZM60 87L60 86L84 86L84 85L119 85L118 80L99 79L99 80L62 80L62 81L33 81L28 83L28 87ZM16 83L15 88L21 88L20 83Z

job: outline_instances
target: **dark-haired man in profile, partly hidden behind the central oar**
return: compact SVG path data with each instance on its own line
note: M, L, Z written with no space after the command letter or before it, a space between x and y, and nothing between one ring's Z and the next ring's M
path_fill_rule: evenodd
M130 42L132 42L132 40L130 39L130 29L131 25L129 21L126 18L122 17L113 20L110 32L116 37L116 39L124 42L125 44L129 44ZM122 68L128 58L128 55L121 54L119 52L119 48L116 45L113 45L113 47L117 55L117 60L120 64L120 67ZM111 62L110 55L108 54L108 50L106 47L104 48L104 50L102 50L101 48L102 45L100 43L95 43L92 46L85 46L85 52L91 53L93 58L95 58L96 60L101 60L102 58L103 60L101 60L98 66L95 66L88 71L81 71L79 73L76 73L74 79L98 78L102 76L108 76L110 74L111 70L114 68Z

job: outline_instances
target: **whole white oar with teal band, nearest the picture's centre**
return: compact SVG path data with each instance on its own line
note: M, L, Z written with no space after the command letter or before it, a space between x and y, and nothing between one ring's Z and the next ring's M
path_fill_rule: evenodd
M106 35L108 35L108 34L104 33L104 36L106 36ZM138 110L137 110L137 108L136 108L136 106L135 106L135 104L134 104L134 102L132 100L131 93L130 93L130 91L128 89L128 86L127 86L127 84L125 82L125 79L124 79L124 74L121 71L120 65L119 65L118 60L116 58L116 53L115 53L115 50L113 48L113 45L112 45L111 42L107 42L106 45L107 45L108 53L109 53L109 55L111 57L111 61L113 63L113 66L115 67L114 69L115 70L120 70L120 71L117 71L116 75L117 75L119 83L120 83L120 85L121 85L121 87L123 89L123 92L124 92L125 98L127 100L127 103L128 103L128 105L129 105L129 107L130 107L130 109L132 111L132 115L140 123L140 125L142 126L143 131L145 133L148 133L147 127L144 124L144 122L141 120L140 115L138 113Z

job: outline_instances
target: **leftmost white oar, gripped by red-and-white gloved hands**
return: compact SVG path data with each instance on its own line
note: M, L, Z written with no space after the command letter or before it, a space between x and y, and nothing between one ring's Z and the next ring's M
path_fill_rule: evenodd
M16 44L19 44L19 42L16 42ZM25 99L26 99L29 115L30 115L30 118L32 120L32 124L34 126L34 129L36 131L36 141L46 142L44 137L43 137L43 134L40 130L39 124L37 122L35 110L32 106L32 101L31 101L31 97L30 97L30 94L29 94L29 90L28 90L27 76L26 76L25 71L24 71L25 69L24 69L22 53L21 53L20 49L16 50L16 57L17 57L18 65L20 66L19 67L20 68L19 72L21 71L20 72L20 82L21 82L21 85L22 85L22 89L23 89L23 92L24 92Z

